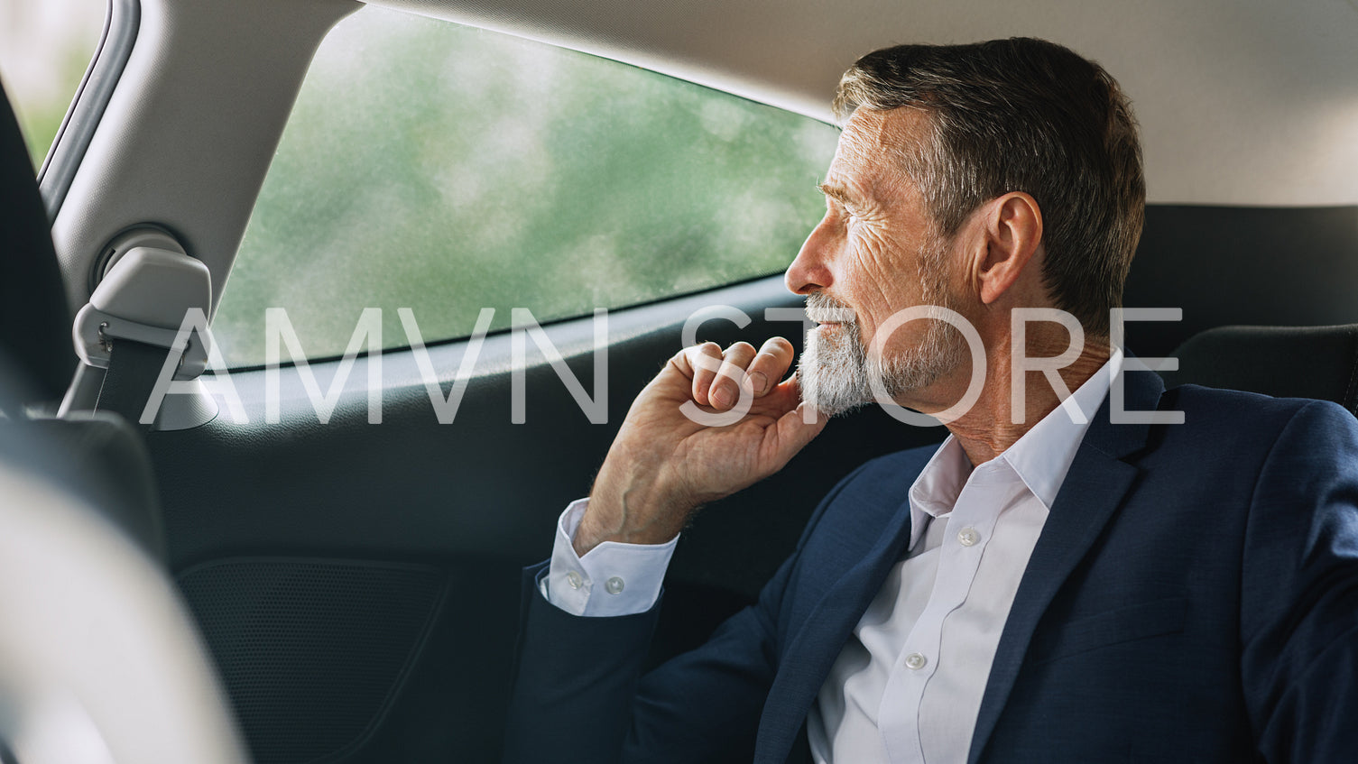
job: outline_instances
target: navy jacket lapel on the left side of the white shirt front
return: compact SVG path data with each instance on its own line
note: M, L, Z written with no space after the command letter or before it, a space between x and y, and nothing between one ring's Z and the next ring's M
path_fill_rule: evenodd
M756 763L786 760L830 666L909 543L910 502L906 499L866 554L846 555L846 565L851 567L820 597L778 661L778 674L759 719Z

